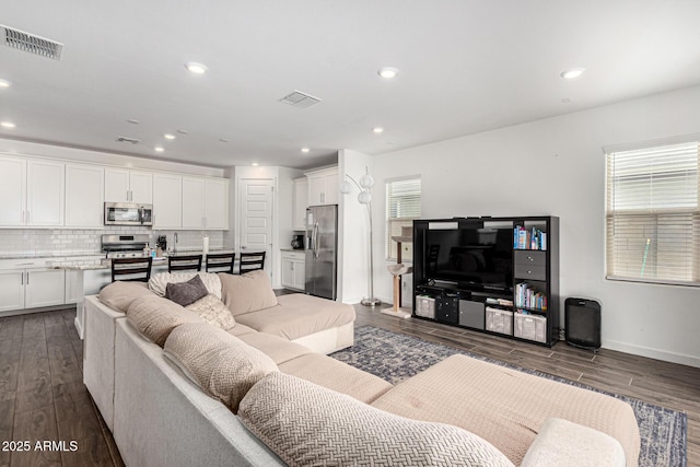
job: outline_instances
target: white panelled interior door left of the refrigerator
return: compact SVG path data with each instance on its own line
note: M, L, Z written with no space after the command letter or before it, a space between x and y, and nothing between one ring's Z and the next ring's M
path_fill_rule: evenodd
M238 207L241 253L266 252L265 270L272 264L272 195L275 182L268 178L241 179ZM270 273L271 276L271 273Z

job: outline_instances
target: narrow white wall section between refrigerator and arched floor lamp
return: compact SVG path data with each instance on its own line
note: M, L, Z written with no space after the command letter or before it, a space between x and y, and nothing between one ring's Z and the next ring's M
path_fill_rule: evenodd
M374 157L355 151L339 151L338 186L346 179L346 174L359 182L365 167L372 173L373 161ZM372 192L373 208L376 197L383 195L382 187L378 188L378 191L375 189ZM352 192L340 195L338 202L338 300L343 303L360 303L363 297L370 296L370 218L366 206L358 201L358 187L352 184ZM374 279L376 288L377 278Z

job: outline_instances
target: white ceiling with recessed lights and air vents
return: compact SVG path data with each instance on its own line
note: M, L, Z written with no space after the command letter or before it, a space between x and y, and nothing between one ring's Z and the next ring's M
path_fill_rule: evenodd
M0 44L0 138L318 166L697 85L699 20L698 0L4 1L0 24L63 52ZM323 102L281 104L293 90Z

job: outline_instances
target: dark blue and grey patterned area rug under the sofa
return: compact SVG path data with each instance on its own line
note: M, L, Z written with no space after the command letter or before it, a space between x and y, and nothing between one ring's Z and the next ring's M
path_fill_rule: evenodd
M685 467L687 465L687 416L676 410L606 393L558 376L517 367L510 363L373 326L358 327L354 345L349 349L331 353L330 357L380 376L389 383L397 384L454 353L462 353L625 400L632 406L639 422L642 440L640 467Z

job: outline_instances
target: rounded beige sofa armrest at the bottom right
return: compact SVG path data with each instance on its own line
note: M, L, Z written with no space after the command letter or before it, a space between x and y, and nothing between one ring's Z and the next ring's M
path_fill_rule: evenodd
M547 419L521 467L565 465L625 467L625 451L616 439L598 430L569 420Z

